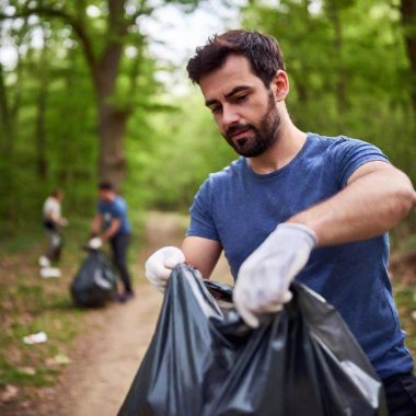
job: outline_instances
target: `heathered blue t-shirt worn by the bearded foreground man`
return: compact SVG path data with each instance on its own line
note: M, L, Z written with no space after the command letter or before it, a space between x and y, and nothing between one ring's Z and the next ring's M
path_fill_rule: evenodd
M235 279L277 224L338 193L369 161L389 162L372 145L315 134L308 134L289 164L270 174L256 174L240 158L203 184L190 207L187 235L219 241ZM297 276L338 310L381 378L413 370L388 265L384 234L316 249Z

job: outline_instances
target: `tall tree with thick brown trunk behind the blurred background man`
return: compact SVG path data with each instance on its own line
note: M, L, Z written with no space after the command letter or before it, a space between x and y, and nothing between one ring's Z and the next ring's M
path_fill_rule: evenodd
M197 0L165 1L194 5ZM12 13L0 14L0 20L39 16L48 21L58 19L71 27L82 46L90 68L97 108L99 131L99 176L109 180L116 186L125 177L126 161L124 137L131 113L131 102L117 102L116 88L123 51L128 43L141 44L138 28L139 18L153 11L150 2L141 0L88 0L48 1L34 0L22 3L11 2ZM88 13L88 11L93 13ZM91 14L96 14L95 16ZM137 54L137 59L141 58ZM130 84L136 89L135 71Z

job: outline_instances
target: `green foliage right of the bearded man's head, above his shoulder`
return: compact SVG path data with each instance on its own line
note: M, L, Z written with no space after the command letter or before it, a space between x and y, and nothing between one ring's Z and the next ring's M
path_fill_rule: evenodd
M261 2L262 3L262 2ZM412 77L400 13L378 0L250 5L244 25L274 35L291 81L288 107L307 131L379 146L416 180Z

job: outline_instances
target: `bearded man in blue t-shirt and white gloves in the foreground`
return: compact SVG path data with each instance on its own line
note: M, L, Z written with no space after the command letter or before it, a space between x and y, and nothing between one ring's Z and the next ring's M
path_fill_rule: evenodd
M209 278L224 250L235 307L253 327L290 300L297 278L340 312L383 380L391 415L415 415L413 359L389 281L386 234L416 203L411 181L369 143L292 124L288 76L270 36L213 36L187 70L242 158L203 184L182 250L155 252L147 277L163 290L171 268L186 259Z

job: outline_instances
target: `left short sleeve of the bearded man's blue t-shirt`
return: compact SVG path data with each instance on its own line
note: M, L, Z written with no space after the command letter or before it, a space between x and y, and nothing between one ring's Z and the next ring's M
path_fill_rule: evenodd
M210 184L207 180L199 188L189 208L190 223L186 236L201 236L219 241L211 208Z

